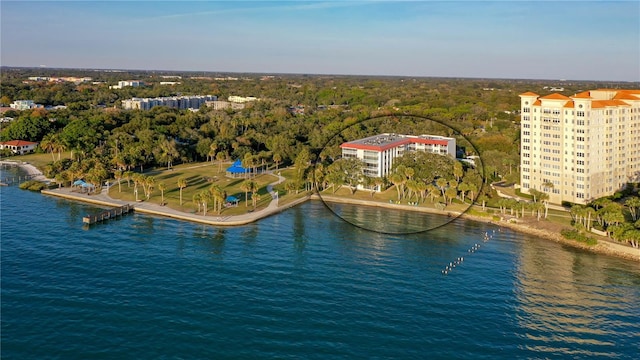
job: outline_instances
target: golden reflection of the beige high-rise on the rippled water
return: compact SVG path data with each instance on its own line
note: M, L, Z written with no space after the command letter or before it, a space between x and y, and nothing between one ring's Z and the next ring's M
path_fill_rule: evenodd
M625 268L632 278L640 273L629 271L631 265L624 260L568 250L548 241L518 243L514 289L524 346L536 353L578 357L615 354L611 339L616 338L612 335L618 326L604 319L618 318L633 327L640 299L639 293L624 293L628 290L622 289L628 287L618 287L620 277L614 273L619 275Z

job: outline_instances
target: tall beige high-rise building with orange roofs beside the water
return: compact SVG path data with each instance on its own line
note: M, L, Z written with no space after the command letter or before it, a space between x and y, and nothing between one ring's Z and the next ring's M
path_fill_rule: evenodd
M640 90L526 92L520 100L523 192L586 204L640 181Z

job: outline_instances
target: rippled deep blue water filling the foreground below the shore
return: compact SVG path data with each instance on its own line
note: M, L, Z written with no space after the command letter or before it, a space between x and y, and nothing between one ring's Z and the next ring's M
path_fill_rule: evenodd
M2 359L640 354L637 262L460 219L382 235L318 201L234 228L95 211L0 188Z

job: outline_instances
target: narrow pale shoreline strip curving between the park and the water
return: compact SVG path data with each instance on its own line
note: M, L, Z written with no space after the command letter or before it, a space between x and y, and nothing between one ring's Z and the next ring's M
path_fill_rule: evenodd
M10 163L15 164L21 167L23 170L27 171L29 175L34 176L33 179L45 179L45 181L50 180L50 179L46 179L44 175L42 175L42 173L35 166L31 164L17 163L17 162L10 162ZM43 180L40 180L40 181L43 181ZM281 180L279 179L278 181L281 181ZM88 195L84 193L73 192L71 191L70 188L58 188L58 189L52 189L52 190L43 190L41 191L41 193L44 195L56 196L56 197L61 197L68 200L81 201L81 202L91 203L91 204L100 205L100 206L117 207L117 206L129 204L128 202L125 202L125 201L112 199L111 197L109 197L107 193L104 193L104 191L103 193L100 193L100 194ZM452 219L451 221L455 221L456 219L464 219L464 220L482 222L487 224L493 224L493 225L509 228L516 232L525 233L525 234L532 235L545 240L554 241L562 245L585 250L591 253L616 256L616 257L640 262L640 249L635 249L633 247L625 246L625 245L614 243L611 241L606 241L606 240L603 241L599 239L596 245L589 246L574 240L565 239L562 235L560 235L557 232L551 232L548 230L534 228L523 223L512 223L512 222L503 221L503 220L495 221L493 220L492 217L485 218L482 216L470 215L470 214L467 214L466 212L463 212L463 213L460 213L457 211L445 212L445 211L440 211L440 210L435 210L430 208L417 208L410 205L390 204L390 203L384 203L384 202L366 201L366 200L357 200L357 199L345 199L345 198L333 197L333 196L327 196L327 195L323 196L317 193L304 196L284 206L278 206L277 201L272 200L269 206L265 209L262 209L256 212L247 213L247 214L242 214L242 215L234 215L234 216L213 216L213 217L203 216L195 213L185 213L182 211L163 207L157 204L145 203L145 202L137 203L137 204L134 204L133 206L136 212L150 214L150 215L169 217L177 220L184 220L184 221L202 223L207 225L239 226L239 225L246 225L249 223L253 223L255 221L266 218L268 216L280 213L284 210L287 210L289 208L302 204L307 200L321 200L326 202L343 203L343 204L349 204L349 205L364 205L364 206L382 207L382 208L389 208L389 209L398 209L398 210L404 210L404 211L416 211L416 212L436 214L441 216L447 216L447 215L453 214L455 215L455 218Z

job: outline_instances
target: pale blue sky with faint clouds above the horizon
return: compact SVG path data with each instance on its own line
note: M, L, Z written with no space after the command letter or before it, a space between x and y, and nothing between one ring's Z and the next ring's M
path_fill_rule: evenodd
M639 1L4 1L5 66L640 81Z

